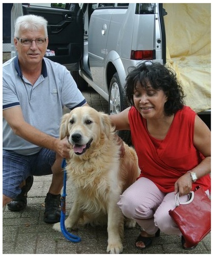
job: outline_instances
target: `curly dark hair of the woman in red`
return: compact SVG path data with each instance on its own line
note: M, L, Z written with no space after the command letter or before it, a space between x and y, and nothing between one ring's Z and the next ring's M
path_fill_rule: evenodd
M155 90L163 90L167 96L167 102L164 105L166 116L171 116L184 106L183 98L185 97L183 88L177 81L176 74L169 67L159 62L145 61L133 67L126 77L126 99L131 106L134 106L134 89L136 84L140 83L146 88L148 82Z

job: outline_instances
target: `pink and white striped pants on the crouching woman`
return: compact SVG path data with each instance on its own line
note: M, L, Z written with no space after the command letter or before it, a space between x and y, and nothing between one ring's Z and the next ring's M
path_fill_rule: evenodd
M188 201L188 196L180 197ZM141 177L120 196L117 203L127 218L137 221L146 233L153 235L158 228L168 235L181 236L168 211L175 207L175 194L163 193L149 179Z

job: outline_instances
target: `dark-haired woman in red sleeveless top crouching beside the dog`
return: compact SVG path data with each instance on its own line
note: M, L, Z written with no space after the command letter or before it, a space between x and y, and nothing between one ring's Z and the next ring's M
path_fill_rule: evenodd
M126 79L130 108L111 116L116 130L131 130L140 177L120 197L123 214L141 227L136 247L143 249L160 231L181 236L168 211L201 186L211 186L211 132L184 105L184 93L173 71L160 63L144 62ZM185 240L182 236L184 249Z

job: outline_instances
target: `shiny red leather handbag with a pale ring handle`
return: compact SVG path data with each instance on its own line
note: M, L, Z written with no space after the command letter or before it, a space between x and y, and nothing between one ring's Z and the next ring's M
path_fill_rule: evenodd
M179 201L177 193L175 205L169 215L179 227L186 247L193 247L211 231L211 200L202 187L197 187L185 203Z

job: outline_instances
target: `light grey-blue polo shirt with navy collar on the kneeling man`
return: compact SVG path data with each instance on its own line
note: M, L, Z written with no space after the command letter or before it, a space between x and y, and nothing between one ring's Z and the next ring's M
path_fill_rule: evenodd
M70 72L56 62L43 58L42 73L32 85L20 70L18 57L3 64L3 110L20 106L26 122L53 137L59 137L63 107L86 104ZM31 155L40 147L14 134L3 118L3 149Z

